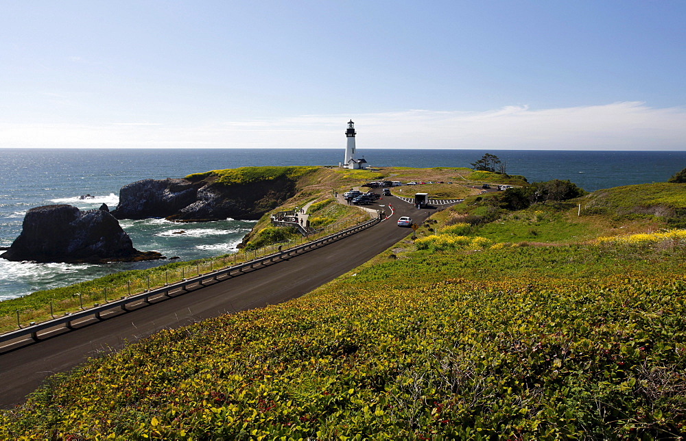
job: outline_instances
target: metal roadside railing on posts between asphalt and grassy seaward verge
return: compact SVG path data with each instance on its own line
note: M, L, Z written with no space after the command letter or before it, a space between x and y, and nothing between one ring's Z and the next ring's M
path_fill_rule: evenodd
M45 331L47 329L54 329L58 327L67 327L67 329L73 329L76 323L81 321L92 320L93 318L100 320L104 318L107 314L113 314L115 312L128 311L128 308L141 307L152 303L153 300L161 300L165 297L172 297L172 294L183 294L189 292L191 289L196 290L206 286L206 283L214 283L215 281L220 281L223 279L228 279L230 277L235 277L232 273L244 273L246 268L248 269L259 269L255 266L261 265L264 267L266 262L274 262L275 260L283 260L283 257L292 257L293 255L298 255L298 253L304 253L311 249L322 247L331 242L335 242L346 236L357 233L357 231L362 231L372 225L375 225L381 221L381 218L377 216L365 222L358 223L352 227L344 228L338 232L328 234L322 238L312 240L310 242L305 242L295 247L283 249L283 245L279 247L278 251L265 255L263 257L255 257L252 260L243 262L241 264L235 264L233 266L228 266L220 270L211 270L209 273L198 274L196 277L191 277L189 279L183 279L182 281L176 283L165 283L165 286L161 288L144 290L139 294L133 294L128 296L122 296L117 300L107 301L106 303L100 305L95 303L91 308L84 309L80 298L80 311L79 312L67 312L64 316L53 318L41 323L29 323L26 327L21 327L19 321L19 313L17 313L17 325L20 329L14 331L9 331L7 333L0 334L0 343L9 342L11 340L19 341L26 336L30 336L34 340L38 340L40 331ZM271 247L270 247L271 248ZM309 250L308 250L309 249ZM257 253L256 253L257 255ZM246 253L247 256L247 253ZM199 270L198 270L199 272ZM236 274L237 275L237 274ZM130 289L130 288L129 288Z

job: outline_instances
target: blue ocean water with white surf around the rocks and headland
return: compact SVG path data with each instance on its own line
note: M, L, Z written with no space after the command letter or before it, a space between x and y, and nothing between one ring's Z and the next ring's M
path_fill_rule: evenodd
M589 190L666 181L686 168L683 151L477 151L357 149L370 166L469 167L484 153L497 155L510 175L530 182L569 179ZM117 205L119 188L139 179L270 165L336 165L344 149L0 149L0 247L21 232L27 210L69 203L81 209ZM93 199L80 199L90 194ZM222 220L171 223L123 220L121 226L141 251L192 260L235 251L254 225ZM163 264L34 264L0 259L0 300L66 286L120 270Z

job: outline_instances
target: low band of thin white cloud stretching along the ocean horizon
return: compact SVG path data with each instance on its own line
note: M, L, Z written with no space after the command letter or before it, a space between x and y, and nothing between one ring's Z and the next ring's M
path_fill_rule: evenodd
M486 112L407 110L304 115L199 125L0 123L0 147L343 148L348 120L359 149L684 150L686 109L640 102Z

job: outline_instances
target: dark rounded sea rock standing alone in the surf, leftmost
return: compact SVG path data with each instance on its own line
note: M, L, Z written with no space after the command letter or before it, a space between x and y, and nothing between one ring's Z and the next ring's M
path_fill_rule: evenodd
M163 256L135 249L117 219L106 210L82 212L72 205L45 205L26 213L21 234L0 257L14 261L104 263Z

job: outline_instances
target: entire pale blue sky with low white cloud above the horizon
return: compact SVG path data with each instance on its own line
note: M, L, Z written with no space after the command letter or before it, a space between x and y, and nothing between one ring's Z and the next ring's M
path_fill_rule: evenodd
M685 1L0 0L0 147L686 149Z

